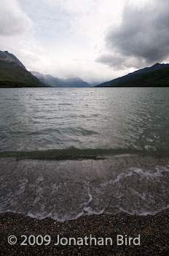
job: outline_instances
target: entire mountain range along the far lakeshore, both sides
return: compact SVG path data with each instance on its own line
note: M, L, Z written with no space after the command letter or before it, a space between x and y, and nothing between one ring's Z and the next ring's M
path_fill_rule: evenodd
M17 57L0 50L0 87L90 87L81 78L61 79L28 72ZM154 64L95 87L169 86L169 64Z

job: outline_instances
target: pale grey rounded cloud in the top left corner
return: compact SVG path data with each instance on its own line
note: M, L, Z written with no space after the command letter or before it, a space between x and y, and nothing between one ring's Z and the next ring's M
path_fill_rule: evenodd
M24 34L31 28L31 20L20 8L17 0L5 0L0 4L0 35Z

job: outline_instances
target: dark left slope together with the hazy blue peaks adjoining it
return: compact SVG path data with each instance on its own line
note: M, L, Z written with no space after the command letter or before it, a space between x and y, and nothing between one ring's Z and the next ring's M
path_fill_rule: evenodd
M28 72L12 53L0 50L0 87L90 87L81 78L60 79Z

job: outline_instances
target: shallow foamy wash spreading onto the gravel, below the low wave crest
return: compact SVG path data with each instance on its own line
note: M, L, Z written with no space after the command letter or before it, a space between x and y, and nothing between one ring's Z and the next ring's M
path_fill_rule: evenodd
M169 159L0 159L0 212L59 221L82 215L156 214L169 208Z

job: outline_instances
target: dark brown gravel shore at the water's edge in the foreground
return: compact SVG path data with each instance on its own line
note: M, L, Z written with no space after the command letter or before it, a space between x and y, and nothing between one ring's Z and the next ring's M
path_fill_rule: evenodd
M20 245L25 240L25 237L21 237L22 235L27 236L24 242L27 245ZM34 244L34 237L29 238L31 235L35 237L39 244L42 242L43 244L37 245L36 241ZM37 240L38 235L41 235L41 237ZM121 235L120 238L123 236L124 244L117 245L117 235ZM138 244L139 235L140 245ZM15 236L17 238L16 244L10 245L8 243L8 236ZM47 245L49 236L51 237L51 242ZM66 238L68 242L69 238L74 238L74 240L71 240L71 245L55 245L58 242L58 236L60 239L63 238L61 240L63 244L66 244ZM129 237L137 238L134 240L135 244L131 240L129 245ZM28 238L31 244L34 245L28 245ZM42 238L47 241L42 240ZM105 244L106 238L111 238L111 240L107 239L107 245ZM125 238L127 245L125 245ZM168 241L169 210L161 211L154 216L136 216L125 213L114 215L102 214L83 216L66 222L57 222L51 218L33 219L21 214L0 214L1 256L167 256L169 255ZM11 238L10 242L14 243L15 238ZM46 245L44 245L45 243ZM101 245L102 243L103 245ZM119 243L122 243L122 240Z

